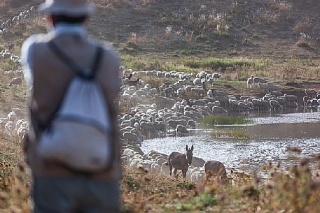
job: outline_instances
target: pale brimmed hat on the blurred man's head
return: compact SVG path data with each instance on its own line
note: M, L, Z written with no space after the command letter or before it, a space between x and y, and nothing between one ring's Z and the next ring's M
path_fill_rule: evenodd
M39 10L55 15L90 15L95 6L87 0L46 0L41 3Z

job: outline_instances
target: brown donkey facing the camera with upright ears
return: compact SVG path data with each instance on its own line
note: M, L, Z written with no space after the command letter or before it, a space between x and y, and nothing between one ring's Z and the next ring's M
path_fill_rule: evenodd
M187 170L189 165L193 160L193 145L191 149L188 149L188 145L186 145L186 154L181 154L179 152L172 152L169 155L168 161L166 165L169 165L170 176L172 175L172 168L174 168L174 175L178 170L182 170L182 177L186 178Z

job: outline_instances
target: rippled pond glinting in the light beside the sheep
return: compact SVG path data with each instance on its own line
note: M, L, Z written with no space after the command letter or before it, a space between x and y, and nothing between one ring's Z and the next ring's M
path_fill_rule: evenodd
M145 140L144 152L156 150L165 154L184 152L186 145L194 145L194 156L205 161L215 160L230 170L235 168L247 173L260 170L265 163L279 162L288 168L299 159L311 154L320 154L320 112L298 112L268 116L250 115L253 124L246 126L218 126L212 129L197 129L188 137L169 137ZM249 139L212 138L212 131L240 130L250 135ZM286 146L302 149L301 154L286 151ZM316 166L316 162L311 162Z

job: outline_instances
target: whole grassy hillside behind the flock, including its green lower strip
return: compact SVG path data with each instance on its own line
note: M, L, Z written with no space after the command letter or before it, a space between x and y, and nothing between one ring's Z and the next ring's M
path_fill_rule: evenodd
M1 1L0 22L43 1ZM256 95L246 89L250 75L276 82L287 94L318 89L320 79L317 1L155 1L94 0L90 36L111 42L122 63L134 70L223 73L214 87L230 94ZM39 13L0 36L0 50L46 32ZM10 60L0 68L12 68ZM25 88L13 91L1 79L1 109L25 104ZM0 110L3 111L3 110ZM7 110L5 110L7 112ZM4 112L0 112L3 116Z

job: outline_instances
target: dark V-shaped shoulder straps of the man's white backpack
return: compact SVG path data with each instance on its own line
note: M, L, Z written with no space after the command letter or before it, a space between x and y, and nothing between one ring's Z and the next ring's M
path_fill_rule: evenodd
M50 50L52 50L53 53L62 62L64 62L64 64L66 64L71 71L76 73L76 75L78 75L80 78L88 79L88 80L95 78L95 75L96 75L97 70L99 68L99 64L102 60L102 53L103 53L102 47L100 47L100 46L97 47L97 51L95 53L95 59L92 63L91 71L89 74L86 75L84 69L81 68L81 66L78 66L78 64L76 64L72 59L70 59L70 57L68 57L67 54L62 52L62 50L60 50L60 48L53 41L50 41L48 43L48 46L50 47Z

